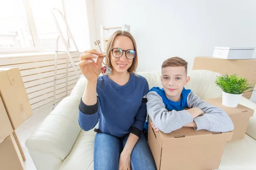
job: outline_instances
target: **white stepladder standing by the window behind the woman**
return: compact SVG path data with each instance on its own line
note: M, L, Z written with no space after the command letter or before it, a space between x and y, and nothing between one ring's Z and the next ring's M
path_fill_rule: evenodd
M61 31L61 28L58 24L58 20L56 18L56 15L55 15L55 12L58 12L59 14L61 14L61 17L62 19L64 20L64 23L66 25L66 28L67 28L67 34L68 34L68 38L67 38L67 42L65 41L65 38L63 36L63 33ZM78 53L78 56L79 55L79 50L77 48L77 45L76 45L76 42L71 34L71 31L70 31L70 28L67 24L67 21L65 19L65 16L62 14L62 12L60 10L58 10L57 8L52 8L52 15L53 15L53 18L54 18L54 21L56 23L56 26L57 26L57 30L58 30L58 33L60 34L58 37L57 37L57 40L56 40L56 46L55 46L55 69L54 69L54 90L53 90L53 106L52 106L52 109L55 108L55 104L56 104L56 86L57 86L57 80L58 79L61 79L61 78L64 78L66 77L66 96L67 96L67 91L68 91L68 64L69 64L69 61L71 62L71 65L76 73L76 79L79 79L79 67L77 64L75 64L73 62L73 58L71 56L71 53L70 52L77 52ZM61 38L64 46L65 46L65 49L66 51L58 51L58 40L59 38ZM70 39L73 41L73 45L75 46L76 48L76 51L70 51ZM64 76L61 76L61 77L58 77L57 79L57 70L58 70L58 52L66 52L67 53L67 69L66 69L66 75ZM64 96L65 97L65 96Z

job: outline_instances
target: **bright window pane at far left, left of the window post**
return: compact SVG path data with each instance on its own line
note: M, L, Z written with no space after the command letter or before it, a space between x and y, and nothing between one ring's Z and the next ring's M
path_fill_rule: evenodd
M22 0L1 0L0 23L0 48L35 47Z

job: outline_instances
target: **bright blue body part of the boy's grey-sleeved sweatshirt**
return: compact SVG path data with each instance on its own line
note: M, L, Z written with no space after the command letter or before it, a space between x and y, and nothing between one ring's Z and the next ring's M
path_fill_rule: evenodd
M181 92L180 101L178 101L178 102L173 102L172 100L168 99L163 88L153 87L150 89L150 91L155 91L155 92L157 92L157 94L159 94L159 96L162 97L163 103L168 111L172 111L172 110L182 111L184 108L188 108L187 96L191 92L190 89L185 89L183 87L183 90ZM148 132L148 117L147 117L147 121L144 124L143 131Z

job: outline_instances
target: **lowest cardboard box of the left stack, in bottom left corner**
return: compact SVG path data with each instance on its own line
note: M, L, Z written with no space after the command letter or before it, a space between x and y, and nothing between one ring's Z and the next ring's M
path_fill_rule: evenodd
M0 169L23 170L24 162L12 134L0 144Z

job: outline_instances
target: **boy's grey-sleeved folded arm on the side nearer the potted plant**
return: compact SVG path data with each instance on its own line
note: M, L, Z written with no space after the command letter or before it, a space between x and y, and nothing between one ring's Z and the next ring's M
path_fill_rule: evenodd
M204 111L203 116L194 119L196 130L209 130L212 132L227 132L234 129L234 125L230 117L221 108L212 106L204 100L201 100L193 91L188 95L187 102L189 108L200 108Z

